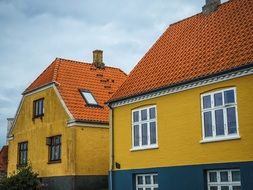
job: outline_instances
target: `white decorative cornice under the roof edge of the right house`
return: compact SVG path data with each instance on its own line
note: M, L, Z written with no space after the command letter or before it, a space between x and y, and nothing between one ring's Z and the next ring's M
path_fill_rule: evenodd
M206 85L210 85L210 84L214 84L214 83L218 83L218 82L222 82L222 81L227 81L227 80L231 80L231 79L235 79L235 78L239 78L239 77L247 76L247 75L251 75L251 74L253 74L252 67L244 69L244 70L239 70L239 71L215 76L215 77L210 77L210 78L199 80L196 82L191 82L188 84L179 85L176 87L168 87L167 89L164 89L164 90L159 90L157 92L150 92L148 94L136 96L133 98L127 98L126 100L115 101L115 102L111 103L111 107L116 108L116 107L124 106L127 104L132 104L135 102L141 102L144 100L149 100L149 99L153 99L153 98L157 98L157 97L161 97L161 96L166 96L168 94L182 92L185 90L189 90L189 89L193 89L193 88L197 88L197 87L201 87L201 86L206 86Z

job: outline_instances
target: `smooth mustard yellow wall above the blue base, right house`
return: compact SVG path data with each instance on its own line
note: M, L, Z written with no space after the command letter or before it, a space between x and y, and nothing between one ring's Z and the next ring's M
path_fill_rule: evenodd
M200 95L236 87L241 139L201 144ZM158 149L131 152L131 111L157 105ZM253 160L253 76L158 97L114 109L115 162L121 169Z

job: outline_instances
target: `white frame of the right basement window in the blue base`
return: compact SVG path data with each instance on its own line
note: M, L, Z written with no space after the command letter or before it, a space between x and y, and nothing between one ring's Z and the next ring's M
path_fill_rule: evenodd
M221 186L229 186L229 190L233 190L233 186L240 186L241 187L241 181L232 181L232 172L233 171L239 171L240 169L226 169L226 170L208 170L207 171L207 186L208 190L211 190L211 187L217 187L218 190L221 190ZM217 182L211 182L209 178L209 174L212 172L216 172L217 174ZM221 172L228 172L228 182L222 182L220 173ZM241 172L240 172L241 176Z

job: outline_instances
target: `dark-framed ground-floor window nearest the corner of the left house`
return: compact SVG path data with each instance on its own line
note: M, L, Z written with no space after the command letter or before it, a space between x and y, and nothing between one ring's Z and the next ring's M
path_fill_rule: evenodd
M61 136L53 136L47 138L47 145L49 146L49 162L61 160Z

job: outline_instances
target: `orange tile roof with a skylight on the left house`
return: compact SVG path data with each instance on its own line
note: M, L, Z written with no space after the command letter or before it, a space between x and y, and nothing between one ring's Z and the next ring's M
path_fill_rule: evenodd
M56 58L51 65L25 90L29 93L55 82L66 106L76 120L109 122L105 102L124 82L127 75L118 68L96 68L93 64ZM100 107L87 106L79 92L89 90Z

